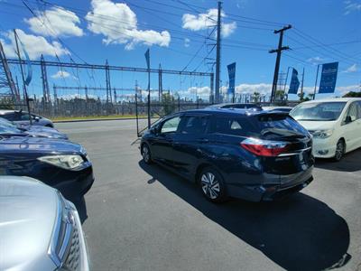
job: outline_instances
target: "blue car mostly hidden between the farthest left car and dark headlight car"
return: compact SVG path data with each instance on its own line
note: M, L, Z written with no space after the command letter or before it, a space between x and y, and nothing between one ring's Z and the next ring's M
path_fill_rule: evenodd
M62 134L54 128L43 126L15 126L13 123L2 117L0 117L0 135L48 137L62 140L69 139L68 135Z

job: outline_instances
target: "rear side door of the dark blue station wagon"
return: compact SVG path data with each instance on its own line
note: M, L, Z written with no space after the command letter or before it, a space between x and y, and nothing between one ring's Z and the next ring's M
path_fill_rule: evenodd
M173 140L173 166L178 173L190 177L198 164L202 148L207 145L208 115L184 115L180 120L179 133Z

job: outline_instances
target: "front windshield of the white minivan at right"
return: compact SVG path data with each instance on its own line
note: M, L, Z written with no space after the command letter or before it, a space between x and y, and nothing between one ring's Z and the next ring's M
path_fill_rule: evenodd
M314 102L295 107L290 115L296 120L332 121L337 120L346 102Z

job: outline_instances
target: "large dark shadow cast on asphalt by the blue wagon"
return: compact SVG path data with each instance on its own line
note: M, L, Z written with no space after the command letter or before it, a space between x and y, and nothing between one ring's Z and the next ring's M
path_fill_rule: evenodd
M286 270L324 270L344 266L349 230L346 220L303 193L285 201L228 201L214 204L207 201L194 183L187 182L160 166L139 162L153 176L148 181L161 182L169 191L187 201L229 232L262 251ZM242 253L242 251L240 251Z

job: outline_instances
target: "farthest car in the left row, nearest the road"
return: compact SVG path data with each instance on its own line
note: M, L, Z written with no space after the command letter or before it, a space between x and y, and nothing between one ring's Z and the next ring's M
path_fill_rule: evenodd
M32 117L33 126L54 127L54 124L51 122L51 120L46 117L41 117L35 114L31 114L30 116ZM14 121L14 123L23 126L28 126L30 124L29 113L23 110L0 110L0 117L4 117L7 120Z

